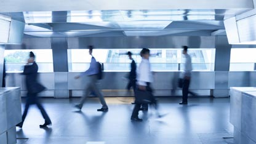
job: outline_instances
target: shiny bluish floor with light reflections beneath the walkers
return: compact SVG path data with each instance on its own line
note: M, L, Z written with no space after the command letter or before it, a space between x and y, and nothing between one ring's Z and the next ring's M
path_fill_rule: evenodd
M143 122L131 122L130 98L107 98L110 110L97 112L97 98L89 98L76 111L79 98L42 100L52 126L44 123L38 109L31 107L23 129L17 128L18 140L24 144L222 144L232 142L233 126L229 122L229 98L191 98L189 105L178 105L180 98L160 98L160 113L140 112ZM24 105L23 105L24 106ZM226 137L226 138L223 138Z

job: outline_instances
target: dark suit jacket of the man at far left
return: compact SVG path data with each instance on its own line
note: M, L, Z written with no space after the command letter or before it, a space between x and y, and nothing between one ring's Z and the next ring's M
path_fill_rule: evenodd
M38 65L36 62L33 65L25 65L23 74L26 76L26 89L29 94L36 94L46 89L38 82Z

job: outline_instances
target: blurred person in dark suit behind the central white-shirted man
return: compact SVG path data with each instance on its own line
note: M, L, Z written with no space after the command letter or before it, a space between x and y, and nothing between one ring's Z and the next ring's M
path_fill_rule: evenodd
M127 90L130 90L130 87L132 87L132 89L134 89L134 92L135 92L137 66L136 66L134 59L132 58L132 52L127 52L127 55L129 57L129 59L132 60L132 63L130 63L130 73L128 76L129 83L127 84Z

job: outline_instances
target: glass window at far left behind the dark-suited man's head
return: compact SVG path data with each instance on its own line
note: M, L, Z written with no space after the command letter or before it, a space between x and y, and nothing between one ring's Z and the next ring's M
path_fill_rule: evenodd
M5 50L4 57L6 59L7 73L20 73L23 66L26 65L30 52L36 55L36 63L38 63L38 72L53 72L54 65L52 60L51 49L33 49L33 50Z

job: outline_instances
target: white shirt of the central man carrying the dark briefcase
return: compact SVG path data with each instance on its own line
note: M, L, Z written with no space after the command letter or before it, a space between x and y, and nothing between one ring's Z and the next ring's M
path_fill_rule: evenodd
M153 74L151 72L150 61L142 58L142 62L137 70L137 84L146 86L146 82L153 82Z

